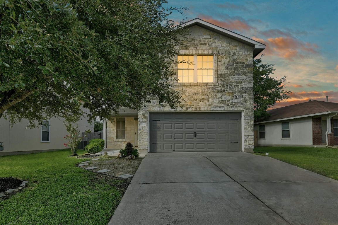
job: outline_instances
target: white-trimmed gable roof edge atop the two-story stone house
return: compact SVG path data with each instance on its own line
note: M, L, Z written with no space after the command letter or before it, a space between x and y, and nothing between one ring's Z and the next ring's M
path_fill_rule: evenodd
M242 42L246 45L252 46L254 48L254 57L256 57L259 53L261 53L265 49L265 45L260 43L260 42L252 40L250 38L247 38L243 35L232 32L230 30L224 29L222 27L216 26L212 23L208 23L207 21L201 20L199 18L195 18L193 20L185 22L185 23L181 24L180 26L184 26L184 27L189 28L189 27L192 27L192 26L195 26L195 25L206 28L208 30L211 30L215 33L221 34L221 35L226 36L228 38L234 39L236 41Z

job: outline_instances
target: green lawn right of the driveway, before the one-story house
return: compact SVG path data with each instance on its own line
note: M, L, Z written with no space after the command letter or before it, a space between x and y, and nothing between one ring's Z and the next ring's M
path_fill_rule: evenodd
M255 147L254 152L257 155L268 152L272 158L338 180L337 148Z

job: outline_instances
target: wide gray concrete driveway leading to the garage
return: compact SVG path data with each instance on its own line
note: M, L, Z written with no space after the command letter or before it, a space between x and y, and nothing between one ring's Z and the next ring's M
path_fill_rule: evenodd
M109 225L337 225L338 181L244 152L151 153Z

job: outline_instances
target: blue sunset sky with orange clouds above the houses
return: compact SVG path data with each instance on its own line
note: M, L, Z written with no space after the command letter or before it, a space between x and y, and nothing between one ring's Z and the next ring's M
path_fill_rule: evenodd
M338 102L338 1L178 1L185 21L200 18L266 45L264 64L286 76L289 99L273 108L312 100ZM182 15L173 14L175 21ZM260 55L258 56L260 57Z

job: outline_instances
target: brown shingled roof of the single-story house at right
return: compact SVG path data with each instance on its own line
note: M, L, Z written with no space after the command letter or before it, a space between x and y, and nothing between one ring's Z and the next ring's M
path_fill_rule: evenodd
M309 101L295 105L289 105L281 108L268 110L270 114L268 118L261 118L255 123L269 122L274 120L288 119L293 117L306 117L313 114L337 113L338 103L323 102L323 101Z

